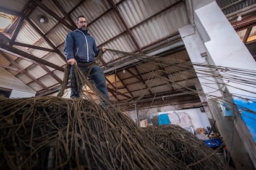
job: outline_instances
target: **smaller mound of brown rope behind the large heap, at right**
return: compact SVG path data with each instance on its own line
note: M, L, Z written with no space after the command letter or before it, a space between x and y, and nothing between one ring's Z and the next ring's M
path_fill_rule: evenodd
M224 169L220 158L215 154L218 150L213 152L203 140L198 140L181 126L147 126L143 131L153 144L162 147L190 169Z

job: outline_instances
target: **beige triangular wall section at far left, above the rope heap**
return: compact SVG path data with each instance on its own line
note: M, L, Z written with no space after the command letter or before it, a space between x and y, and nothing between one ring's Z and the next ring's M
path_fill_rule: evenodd
M0 87L11 89L13 92L10 97L32 97L36 94L30 87L3 68L0 68Z

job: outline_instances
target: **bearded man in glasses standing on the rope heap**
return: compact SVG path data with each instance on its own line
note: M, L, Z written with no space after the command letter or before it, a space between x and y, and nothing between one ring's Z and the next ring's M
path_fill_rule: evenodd
M106 47L102 47L102 49L96 48L95 39L88 34L87 21L83 15L77 17L76 25L77 29L67 34L64 49L67 63L71 65L70 97L77 98L82 94L81 84L77 85L74 76L74 64L77 64L82 73L88 75L96 88L108 99L105 75L103 70L95 64L95 57L99 54L100 50L105 52ZM88 71L90 72L88 73ZM79 80L79 82L81 82L81 80ZM101 100L103 100L105 106L108 106L104 99Z

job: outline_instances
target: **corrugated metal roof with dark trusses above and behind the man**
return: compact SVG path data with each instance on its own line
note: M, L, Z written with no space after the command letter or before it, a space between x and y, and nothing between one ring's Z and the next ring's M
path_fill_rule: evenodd
M255 1L246 2L249 6ZM247 5L245 1L217 2L223 7L223 10L227 11L227 14ZM229 6L232 3L234 4ZM136 98L142 94L153 97L154 93L171 93L175 90L177 92L183 87L194 86L197 82L195 73L189 63L186 50L180 49L184 45L181 38L177 36L178 28L189 24L186 1L114 0L114 4L116 6L113 6L108 0L10 0L8 2L1 0L1 7L16 12L23 12L23 8L27 6L26 11L28 13L22 14L25 20L17 38L14 39L15 42L22 42L25 45L11 47L24 51L28 55L33 55L34 60L41 59L49 63L48 66L46 65L47 68L42 68L38 64L38 60L32 62L33 59L24 60L26 56L18 59L14 55L7 54L21 68L28 71L32 78L29 78L26 73L9 71L38 94L51 91L51 89L58 89L58 86L61 86L59 79L64 76L64 72L59 70L61 70L60 67L64 68L66 65L66 61L63 59L64 40L66 34L72 31L71 28L75 28L75 25L72 25L74 22L70 22L69 17L75 21L78 15L85 15L88 21L88 31L95 38L98 46L106 46L108 49L124 52L145 52L147 54L159 54L161 52L163 56L167 55L166 52L171 54L161 58L161 60L166 60L166 64L163 63L161 67L159 65L156 67L153 57L134 62L140 57L127 57L125 54L106 52L103 55L104 67L101 66L103 69L112 68L112 71L109 71L106 76L108 87L111 89L109 92L111 99L126 100L132 95ZM48 22L40 23L39 17L41 15L45 15ZM64 17L67 15L69 17ZM65 26L62 22L67 22L71 26ZM9 27L8 33L14 34L15 28L16 26ZM241 31L241 35L244 36L244 34L245 32ZM252 28L250 36L255 36L255 27ZM27 47L26 44L32 46ZM36 49L35 46L43 47L45 50ZM177 50L179 52L172 52L176 49L179 49ZM118 62L113 62L117 59L119 59ZM181 64L184 61L187 63ZM2 63L15 68L15 65L10 62ZM56 67L50 67L50 64L55 65L59 70L56 70ZM50 76L52 73L57 78ZM41 85L36 83L35 79L41 81ZM150 89L147 89L148 87ZM93 96L93 99L96 98Z

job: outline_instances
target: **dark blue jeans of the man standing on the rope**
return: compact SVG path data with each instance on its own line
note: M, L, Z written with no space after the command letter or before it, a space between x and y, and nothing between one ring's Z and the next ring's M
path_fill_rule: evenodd
M79 65L79 69L82 71L83 75L87 75L89 66ZM93 64L92 69L89 73L89 78L93 81L93 84L95 84L96 88L103 95L105 95L106 99L109 99L105 75L103 73L103 70L100 67L98 67L98 65ZM72 98L72 97L78 98L82 94L82 86L84 84L80 83L79 85L77 85L77 83L75 81L75 77L74 77L74 65L72 65L70 68L70 79L71 79L70 98ZM81 81L79 81L79 82L81 82ZM108 103L104 99L101 99L101 100L105 106L108 106Z

